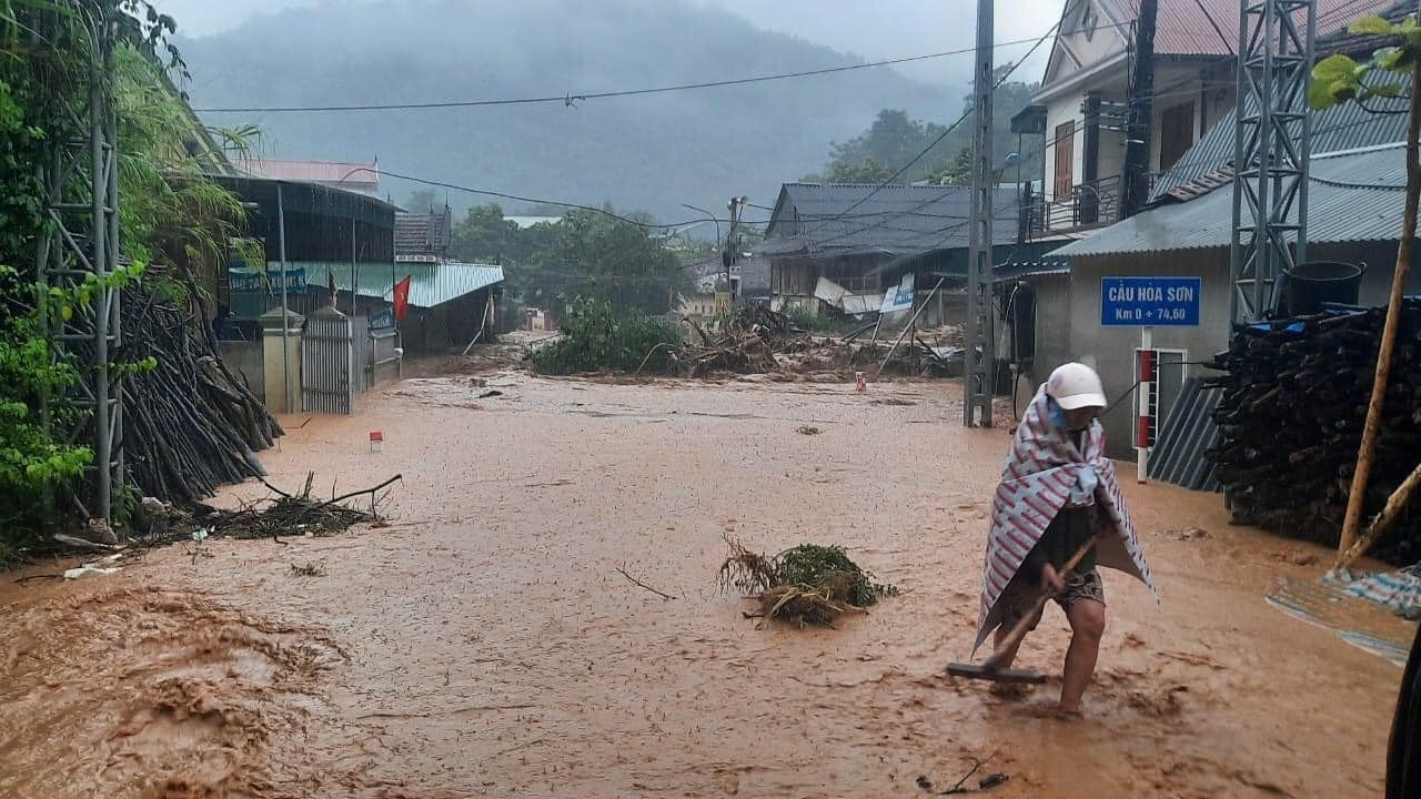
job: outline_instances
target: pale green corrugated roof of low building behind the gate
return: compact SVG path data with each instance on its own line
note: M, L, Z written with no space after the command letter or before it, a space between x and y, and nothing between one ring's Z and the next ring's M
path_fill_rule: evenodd
M350 263L287 262L288 269L304 269L310 290L327 286L328 276L335 277L335 287L351 290ZM267 262L267 272L280 270L280 262ZM409 277L409 304L416 309L432 309L472 294L503 281L503 267L482 263L361 263L361 297L391 299L391 287Z

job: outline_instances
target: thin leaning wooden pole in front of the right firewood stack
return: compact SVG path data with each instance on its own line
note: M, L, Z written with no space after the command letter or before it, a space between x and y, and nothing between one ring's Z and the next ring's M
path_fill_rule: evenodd
M1421 198L1418 138L1421 138L1421 64L1411 70L1411 117L1407 127L1407 205L1401 222L1401 243L1397 246L1397 270L1391 276L1387 323L1381 328L1377 374L1371 384L1371 401L1367 404L1367 425L1361 431L1361 446L1357 449L1357 469L1351 475L1351 492L1347 495L1347 516L1341 525L1339 554L1347 553L1357 542L1357 527L1361 525L1361 512L1367 503L1371 456L1377 451L1377 432L1381 429L1381 405L1387 398L1387 380L1391 375L1391 354L1395 350L1397 327L1401 321L1401 297L1405 294L1407 273L1411 272L1411 239L1417 235L1417 200Z

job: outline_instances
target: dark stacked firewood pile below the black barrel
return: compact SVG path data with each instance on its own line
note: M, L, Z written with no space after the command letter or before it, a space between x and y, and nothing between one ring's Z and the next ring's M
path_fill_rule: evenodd
M1236 520L1336 546L1356 468L1385 309L1333 313L1236 331L1215 368L1218 463ZM1366 516L1421 461L1421 300L1403 306L1395 360L1367 490ZM1377 554L1417 559L1421 513Z

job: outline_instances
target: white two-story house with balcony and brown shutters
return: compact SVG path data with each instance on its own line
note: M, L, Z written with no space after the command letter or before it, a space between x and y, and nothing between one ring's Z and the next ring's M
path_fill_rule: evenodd
M1125 149L1148 146L1147 172L1169 169L1235 101L1239 0L1155 0L1148 129L1131 131L1141 0L1066 0L1032 111L1044 115L1044 176L1032 235L1081 232L1121 218ZM1394 0L1317 0L1317 37Z

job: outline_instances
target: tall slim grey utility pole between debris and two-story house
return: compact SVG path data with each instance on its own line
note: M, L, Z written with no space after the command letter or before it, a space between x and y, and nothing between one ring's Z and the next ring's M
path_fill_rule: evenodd
M996 357L992 353L992 3L978 0L972 75L972 203L968 236L968 336L962 354L962 424L992 427Z

